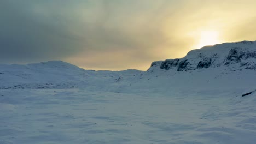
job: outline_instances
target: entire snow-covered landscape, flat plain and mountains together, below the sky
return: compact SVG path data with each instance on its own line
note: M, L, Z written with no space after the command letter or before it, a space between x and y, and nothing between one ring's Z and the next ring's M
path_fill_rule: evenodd
M0 144L256 142L256 41L147 71L0 65Z

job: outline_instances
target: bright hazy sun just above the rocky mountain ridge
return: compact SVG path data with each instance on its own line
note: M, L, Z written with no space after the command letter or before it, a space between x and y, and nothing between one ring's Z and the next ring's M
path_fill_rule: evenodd
M219 44L219 33L217 31L202 31L197 49L206 45Z

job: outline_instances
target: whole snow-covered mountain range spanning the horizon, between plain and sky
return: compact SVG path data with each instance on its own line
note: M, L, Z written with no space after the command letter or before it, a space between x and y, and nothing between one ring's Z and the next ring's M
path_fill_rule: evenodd
M183 58L153 62L147 71L84 70L62 61L0 65L0 89L171 91L171 88L234 88L237 82L240 82L240 87L252 87L255 70L256 41L241 41L205 46L191 50ZM194 85L198 87L191 87Z

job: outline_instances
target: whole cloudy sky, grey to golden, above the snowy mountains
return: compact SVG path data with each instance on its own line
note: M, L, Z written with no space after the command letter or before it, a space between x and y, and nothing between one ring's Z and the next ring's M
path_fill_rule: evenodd
M147 70L203 45L256 40L255 0L4 0L0 63Z

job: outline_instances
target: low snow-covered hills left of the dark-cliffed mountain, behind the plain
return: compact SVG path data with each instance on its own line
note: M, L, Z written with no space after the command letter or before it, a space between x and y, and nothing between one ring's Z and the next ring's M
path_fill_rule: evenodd
M0 65L0 89L101 87L139 73L139 70L84 70L62 61Z

